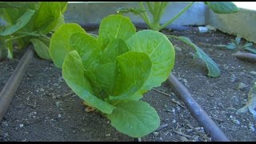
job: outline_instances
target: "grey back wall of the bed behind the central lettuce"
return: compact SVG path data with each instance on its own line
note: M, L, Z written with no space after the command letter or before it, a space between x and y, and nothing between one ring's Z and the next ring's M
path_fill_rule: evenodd
M169 2L166 13L161 22L173 18L189 2ZM119 7L138 7L138 2L75 2L69 3L65 13L66 22L76 22L80 25L89 23L100 23L102 18L109 14L115 14ZM195 2L180 18L174 21L174 25L196 25L205 24L206 6L203 2ZM142 18L134 14L125 14L132 22L143 22Z

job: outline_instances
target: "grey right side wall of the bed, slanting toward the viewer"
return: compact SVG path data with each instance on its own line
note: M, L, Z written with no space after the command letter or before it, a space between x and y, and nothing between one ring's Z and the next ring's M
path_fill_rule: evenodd
M256 42L256 10L240 8L234 14L215 14L212 10L206 10L206 24L249 42Z

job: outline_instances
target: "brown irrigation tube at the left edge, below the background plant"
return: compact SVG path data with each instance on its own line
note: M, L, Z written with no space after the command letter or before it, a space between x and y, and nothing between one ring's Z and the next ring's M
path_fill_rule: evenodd
M29 46L26 53L22 56L22 59L18 62L18 66L15 68L14 73L3 87L0 93L0 122L2 122L2 118L5 116L8 107L10 106L10 102L14 97L32 58L34 58L34 52L31 50L31 46Z

